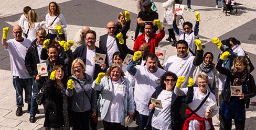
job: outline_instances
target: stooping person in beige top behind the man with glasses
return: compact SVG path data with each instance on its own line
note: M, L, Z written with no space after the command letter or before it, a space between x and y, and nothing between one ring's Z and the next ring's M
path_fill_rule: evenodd
M71 46L71 51L74 52L74 50L77 49L78 46L84 46L86 45L86 32L88 30L91 30L88 26L83 26L81 30L79 30L76 35L74 35L73 41L74 45Z

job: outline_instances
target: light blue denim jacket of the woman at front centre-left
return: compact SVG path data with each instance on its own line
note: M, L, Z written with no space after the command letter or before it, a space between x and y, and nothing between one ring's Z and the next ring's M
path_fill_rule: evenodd
M120 78L121 78L122 88L124 88L124 91L123 91L124 107L123 107L123 113L121 117L121 125L124 125L124 118L128 115L128 112L134 113L135 103L134 103L134 97L133 97L133 89L132 89L132 85L130 84L130 81L122 76ZM94 80L92 84L92 88L95 90L101 91L100 98L99 98L99 109L101 113L101 119L104 119L104 117L106 116L106 113L108 112L110 101L113 96L111 78L104 76L101 79L100 84L97 84L97 82Z

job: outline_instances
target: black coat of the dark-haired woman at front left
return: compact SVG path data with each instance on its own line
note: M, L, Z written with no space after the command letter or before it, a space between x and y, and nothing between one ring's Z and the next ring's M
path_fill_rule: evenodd
M67 88L66 84L65 87ZM64 125L63 96L61 91L57 89L56 81L48 79L44 93L46 96L44 127L59 128Z

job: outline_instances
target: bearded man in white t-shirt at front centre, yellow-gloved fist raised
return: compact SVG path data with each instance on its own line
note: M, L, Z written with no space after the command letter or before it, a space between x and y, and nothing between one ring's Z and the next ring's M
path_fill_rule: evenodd
M141 51L134 53L133 60L129 63L127 71L136 79L134 90L134 102L136 105L138 129L144 129L147 123L150 109L147 107L155 87L160 85L159 77L165 70L157 67L158 57L154 53L146 56L146 66L138 65L138 58L142 56Z

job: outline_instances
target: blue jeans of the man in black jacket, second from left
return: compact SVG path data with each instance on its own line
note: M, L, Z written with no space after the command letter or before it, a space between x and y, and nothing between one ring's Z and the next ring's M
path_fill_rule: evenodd
M36 111L38 109L38 104L36 102L36 96L39 90L42 88L42 86L38 86L36 83L36 78L33 77L33 96L31 98L31 109L29 111L30 116L35 116Z

